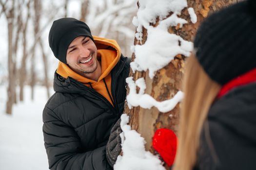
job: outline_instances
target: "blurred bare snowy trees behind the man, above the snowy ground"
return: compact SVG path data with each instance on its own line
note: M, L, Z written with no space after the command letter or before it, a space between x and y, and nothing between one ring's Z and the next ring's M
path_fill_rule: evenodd
M8 86L6 113L23 101L25 85L52 86L58 60L48 45L54 20L75 17L86 22L93 35L116 39L122 53L131 56L136 0L0 0L0 85ZM16 87L19 87L16 88Z

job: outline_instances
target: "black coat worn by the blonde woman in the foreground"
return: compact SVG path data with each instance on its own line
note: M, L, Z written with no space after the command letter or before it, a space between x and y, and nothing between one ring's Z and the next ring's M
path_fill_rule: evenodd
M256 170L256 83L214 102L207 122L195 170Z

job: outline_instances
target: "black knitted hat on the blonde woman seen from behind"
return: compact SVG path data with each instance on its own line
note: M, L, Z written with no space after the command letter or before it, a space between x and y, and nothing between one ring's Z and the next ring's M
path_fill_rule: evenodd
M256 0L231 5L206 18L194 47L200 65L220 85L256 68Z

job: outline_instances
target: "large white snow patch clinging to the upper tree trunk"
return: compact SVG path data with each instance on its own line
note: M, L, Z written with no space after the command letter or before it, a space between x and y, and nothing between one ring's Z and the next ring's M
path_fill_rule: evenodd
M135 36L141 43L143 26L147 29L147 40L143 45L135 46L136 58L131 63L131 68L133 72L149 70L149 77L152 79L156 71L168 65L177 54L188 57L193 50L192 42L168 33L170 26L179 24L181 28L188 23L177 16L187 7L187 1L158 0L156 3L155 0L139 0L139 5L137 17L133 18L133 24L137 27ZM173 12L172 16L164 19L170 12ZM151 26L150 23L156 23L157 17L160 19L158 26Z

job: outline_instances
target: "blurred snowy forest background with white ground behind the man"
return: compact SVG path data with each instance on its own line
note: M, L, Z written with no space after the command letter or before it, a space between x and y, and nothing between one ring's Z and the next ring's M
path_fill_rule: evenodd
M0 0L0 170L47 170L42 110L58 66L48 33L75 17L131 56L137 0Z

